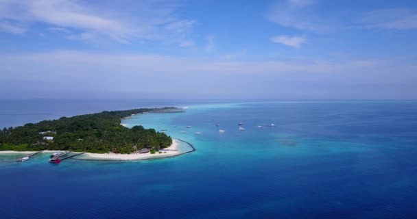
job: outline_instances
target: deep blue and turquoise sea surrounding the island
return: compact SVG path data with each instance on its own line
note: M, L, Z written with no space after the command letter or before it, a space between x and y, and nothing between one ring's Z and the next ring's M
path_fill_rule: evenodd
M123 123L168 129L197 151L59 165L46 154L23 164L1 155L1 218L417 218L416 102L59 101L55 110L9 107L0 121L187 105Z

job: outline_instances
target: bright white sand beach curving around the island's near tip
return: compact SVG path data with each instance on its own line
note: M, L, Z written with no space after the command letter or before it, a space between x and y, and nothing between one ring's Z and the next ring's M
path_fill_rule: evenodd
M162 149L162 153L132 153L130 155L126 154L119 154L119 153L84 153L84 155L80 155L78 157L74 157L74 159L99 159L99 160L139 160L139 159L154 159L154 158L162 158L162 157L172 157L176 155L180 155L184 153L179 149L180 142L176 139L172 139L171 146L167 147L166 149ZM175 151L174 151L175 150Z

